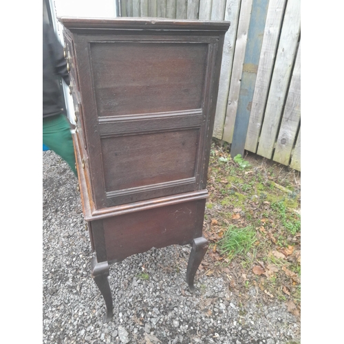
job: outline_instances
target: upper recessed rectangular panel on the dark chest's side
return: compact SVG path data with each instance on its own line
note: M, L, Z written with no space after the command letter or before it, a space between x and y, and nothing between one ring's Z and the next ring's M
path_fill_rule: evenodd
M98 116L200 109L206 43L91 43Z

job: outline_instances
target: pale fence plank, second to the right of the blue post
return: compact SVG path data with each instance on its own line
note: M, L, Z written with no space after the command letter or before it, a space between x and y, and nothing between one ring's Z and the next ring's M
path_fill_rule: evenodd
M270 159L300 33L300 0L288 0L257 153Z

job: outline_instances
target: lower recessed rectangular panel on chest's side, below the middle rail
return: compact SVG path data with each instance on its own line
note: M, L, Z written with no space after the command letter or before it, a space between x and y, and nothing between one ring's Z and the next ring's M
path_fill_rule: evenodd
M199 129L104 138L107 192L195 177Z

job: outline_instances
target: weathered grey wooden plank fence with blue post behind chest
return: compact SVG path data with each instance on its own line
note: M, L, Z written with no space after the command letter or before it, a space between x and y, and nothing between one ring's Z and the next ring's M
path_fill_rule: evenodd
M121 17L230 21L213 136L301 171L300 0L120 0Z

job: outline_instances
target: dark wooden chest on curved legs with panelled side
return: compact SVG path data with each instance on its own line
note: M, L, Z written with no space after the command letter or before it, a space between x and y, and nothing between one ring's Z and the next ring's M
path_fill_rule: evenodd
M191 244L189 289L208 248L206 179L228 22L59 19L74 98L92 275L112 316L109 264Z

